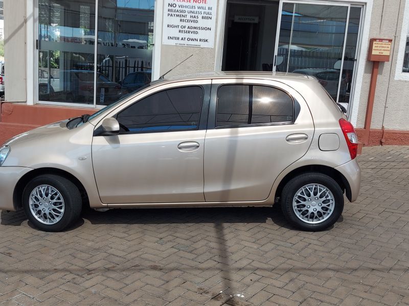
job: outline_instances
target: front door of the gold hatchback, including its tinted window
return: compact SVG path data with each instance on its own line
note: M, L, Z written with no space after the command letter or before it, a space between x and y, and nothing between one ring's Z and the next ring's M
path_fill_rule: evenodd
M164 89L112 115L120 123L120 134L96 136L92 145L103 203L205 200L207 113L202 108L208 106L209 89L210 85L188 84Z

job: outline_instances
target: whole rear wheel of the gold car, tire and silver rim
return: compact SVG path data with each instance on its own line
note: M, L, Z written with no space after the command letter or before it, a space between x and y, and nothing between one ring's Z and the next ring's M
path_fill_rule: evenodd
M304 231L322 231L344 210L344 194L328 175L304 173L283 188L281 208L286 219Z

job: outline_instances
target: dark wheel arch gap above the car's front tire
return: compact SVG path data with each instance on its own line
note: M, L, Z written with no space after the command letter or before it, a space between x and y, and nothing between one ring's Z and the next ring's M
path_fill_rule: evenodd
M47 168L37 168L33 169L30 172L26 173L23 175L20 180L18 180L16 186L14 187L13 191L13 206L14 210L20 210L22 209L22 193L24 189L26 188L27 184L34 179L34 177L38 175L43 175L43 174L54 174L54 175L59 175L62 177L65 177L65 179L70 180L71 182L74 183L75 186L79 189L82 197L82 205L84 206L89 206L89 198L88 194L86 192L86 189L84 185L75 177L73 174L70 172L67 172L65 170L61 170L58 168L52 168L52 167L47 167Z

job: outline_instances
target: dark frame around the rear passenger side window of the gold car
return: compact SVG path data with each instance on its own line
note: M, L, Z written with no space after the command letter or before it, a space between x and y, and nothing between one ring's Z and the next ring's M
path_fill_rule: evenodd
M251 124L241 124L241 125L228 125L228 126L217 126L217 107L218 107L218 100L219 100L219 90L222 86L264 86L264 87L269 87L269 88L274 88L277 90L283 91L285 94L287 94L291 100L292 100L292 121L285 121L285 122L270 122L270 123L251 123ZM217 86L217 91L216 91L216 109L215 109L215 114L214 114L214 129L237 129L238 127L254 127L254 126L270 126L270 125L288 125L288 124L294 124L296 122L296 99L290 94L288 91L285 89L282 89L278 86L273 86L273 85L267 85L267 84L261 84L261 83L224 83L224 84L218 84Z

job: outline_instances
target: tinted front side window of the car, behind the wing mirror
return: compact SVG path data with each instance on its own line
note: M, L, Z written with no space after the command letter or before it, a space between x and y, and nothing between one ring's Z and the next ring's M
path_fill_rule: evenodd
M117 115L123 132L197 130L203 100L199 86L154 93Z

